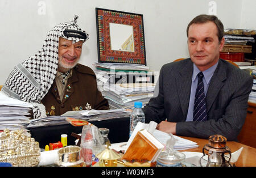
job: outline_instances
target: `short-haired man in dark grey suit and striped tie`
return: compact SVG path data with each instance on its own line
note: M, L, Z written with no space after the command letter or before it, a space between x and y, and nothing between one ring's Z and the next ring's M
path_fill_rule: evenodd
M158 122L157 129L166 133L199 138L221 134L236 140L253 78L220 59L224 27L216 16L194 18L187 36L190 58L162 67L158 95L143 108L146 122Z

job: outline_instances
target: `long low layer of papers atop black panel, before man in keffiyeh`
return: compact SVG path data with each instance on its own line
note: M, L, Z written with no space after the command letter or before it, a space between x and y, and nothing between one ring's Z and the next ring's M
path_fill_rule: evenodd
M113 118L130 117L131 113L125 109L109 109L109 110L82 110L82 111L68 111L61 116L48 116L44 118L36 118L30 120L27 128L38 128L40 126L63 125L69 124L66 121L67 117L72 117L85 121L101 121L110 120Z

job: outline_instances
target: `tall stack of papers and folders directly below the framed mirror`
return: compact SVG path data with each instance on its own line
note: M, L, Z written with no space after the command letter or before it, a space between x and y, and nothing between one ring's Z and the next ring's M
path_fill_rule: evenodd
M148 67L135 64L97 63L96 67L98 90L108 99L111 109L133 108L135 101L141 101L143 106L154 95L158 73L148 70Z

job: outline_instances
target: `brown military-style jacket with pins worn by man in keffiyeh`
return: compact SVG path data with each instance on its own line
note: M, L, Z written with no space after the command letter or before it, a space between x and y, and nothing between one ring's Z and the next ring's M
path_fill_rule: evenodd
M103 98L101 92L98 91L96 75L88 66L77 64L73 68L72 77L67 81L65 95L68 95L68 97L60 101L54 80L52 87L42 100L48 115L54 113L54 115L60 116L67 111L86 110L87 103L92 109L109 109L108 100Z

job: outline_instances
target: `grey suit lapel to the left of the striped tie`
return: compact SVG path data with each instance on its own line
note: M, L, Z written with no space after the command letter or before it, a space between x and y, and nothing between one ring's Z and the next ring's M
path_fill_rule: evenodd
M181 109L184 115L184 120L187 117L189 98L191 92L191 82L192 82L192 73L193 73L193 63L189 60L183 69L180 70L179 74L176 77L176 84L178 95L180 99Z

